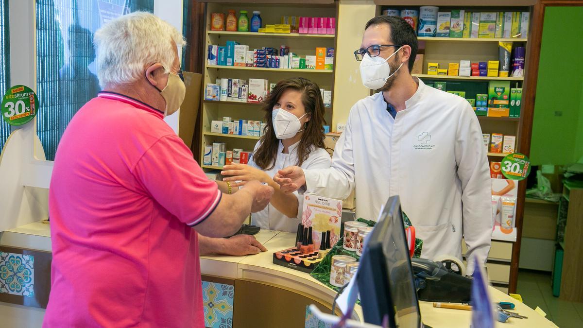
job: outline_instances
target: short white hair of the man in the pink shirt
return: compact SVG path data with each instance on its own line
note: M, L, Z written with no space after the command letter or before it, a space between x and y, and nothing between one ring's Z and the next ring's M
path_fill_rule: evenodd
M154 62L169 72L175 58L172 41L178 47L186 43L174 26L151 13L134 12L107 22L94 36L101 88L135 82Z

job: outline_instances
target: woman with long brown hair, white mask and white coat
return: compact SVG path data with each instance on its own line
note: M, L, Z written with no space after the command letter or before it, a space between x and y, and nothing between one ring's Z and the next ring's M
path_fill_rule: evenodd
M301 221L303 197L297 191L285 194L273 175L290 165L303 169L327 169L331 165L324 149L324 102L316 83L304 78L280 81L264 100L265 134L255 145L249 164L224 166L218 182L223 193L234 192L250 180L275 189L271 203L252 214L261 229L296 232Z

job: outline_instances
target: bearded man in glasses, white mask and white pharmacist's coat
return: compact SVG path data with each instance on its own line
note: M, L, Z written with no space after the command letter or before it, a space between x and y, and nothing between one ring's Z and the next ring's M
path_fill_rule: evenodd
M470 104L426 86L410 74L417 53L415 31L405 20L371 19L359 50L364 86L380 90L359 100L336 144L332 167L290 166L274 180L282 190L345 199L356 188L357 217L377 219L390 196L401 197L422 257L485 260L490 250L490 175L482 131ZM472 274L470 264L468 274Z

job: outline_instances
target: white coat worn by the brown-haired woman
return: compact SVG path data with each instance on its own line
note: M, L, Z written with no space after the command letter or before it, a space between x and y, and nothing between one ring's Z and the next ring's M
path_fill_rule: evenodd
M260 144L261 141L257 142L255 145L255 150L257 150ZM297 165L297 146L299 144L300 141L296 142L296 144L289 146L288 153L282 153L283 145L281 142L279 142L278 157L275 160L275 166L273 169L265 171L269 177L271 177L271 179L273 179L273 176L278 173L279 170L287 168L287 166ZM330 155L324 148L313 147L308 158L302 163L301 168L328 169L330 168L331 162L332 160L330 159ZM253 156L251 156L249 159L248 165L261 169L253 161ZM251 214L251 223L253 225L259 226L261 229L296 232L297 225L301 222L304 197L302 196L303 193L298 193L298 191L295 191L294 195L297 197L298 203L296 218L288 218L285 214L276 210L276 208L273 207L273 205L270 203L267 207L264 208L264 210Z

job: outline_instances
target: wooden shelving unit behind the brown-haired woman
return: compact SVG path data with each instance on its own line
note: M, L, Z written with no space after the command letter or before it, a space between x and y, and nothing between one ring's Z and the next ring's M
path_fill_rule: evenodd
M336 48L336 35L331 34L298 34L298 33L254 33L254 32L226 32L210 30L212 13L227 13L230 9L238 13L241 10L248 11L251 18L252 11L261 11L262 25L279 24L282 16L313 16L313 17L335 17L338 27L338 2L333 0L315 1L202 1L205 4L205 30L201 34L205 39L202 47L202 57L204 58L204 81L202 88L205 90L207 83L215 83L216 79L250 78L267 79L269 83L276 83L281 79L302 76L310 79L325 90L332 90L334 85L334 70L325 69L279 69L279 68L258 68L258 67L235 67L208 65L206 52L208 46L225 46L226 41L237 41L240 44L249 46L250 50L262 47L274 47L279 49L285 45L290 47L290 52L297 54L300 58L305 55L315 55L317 47ZM338 28L336 28L338 30ZM204 92L203 92L204 94ZM231 117L233 120L254 120L264 119L265 112L260 103L239 103L239 102L219 102L201 100L202 120L199 126L201 134L201 152L195 155L199 163L203 163L203 151L206 145L221 141L226 143L226 149L240 148L244 151L252 151L259 137L247 137L241 135L229 135L210 132L212 121L221 121L223 117ZM325 119L328 124L332 122L332 107L326 108ZM222 169L215 166L201 165L203 169Z

